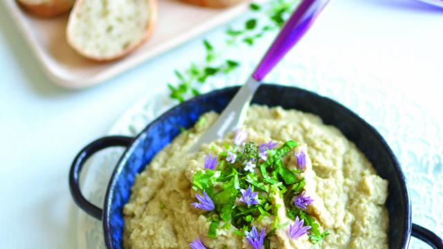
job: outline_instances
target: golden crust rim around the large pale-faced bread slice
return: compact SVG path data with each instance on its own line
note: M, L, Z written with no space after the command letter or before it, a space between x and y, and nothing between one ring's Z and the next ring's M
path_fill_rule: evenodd
M122 50L120 53L113 55L113 56L97 57L97 56L89 55L84 50L82 50L82 48L78 47L77 44L75 44L75 42L73 42L71 33L69 32L72 29L71 26L75 23L75 21L77 21L76 20L76 13L78 12L80 6L82 5L82 3L84 1L87 1L87 0L77 0L75 2L73 10L71 11L71 14L69 15L68 26L66 28L66 41L68 42L69 46L71 46L77 53L79 53L83 57L86 57L87 59L91 59L95 62L111 62L116 59L120 59L122 57L125 57L129 53L131 53L133 50L136 50L136 48L138 48L142 44L144 44L147 41L147 39L149 39L151 37L152 33L154 33L154 29L155 29L156 22L157 22L157 0L148 0L149 6L150 6L150 8L149 8L150 15L149 15L149 19L147 21L145 35L143 36L143 38L140 41L132 43L131 45L127 46L127 48Z

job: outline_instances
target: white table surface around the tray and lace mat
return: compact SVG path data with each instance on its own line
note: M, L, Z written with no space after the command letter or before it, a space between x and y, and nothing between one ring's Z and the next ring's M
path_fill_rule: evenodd
M410 0L335 0L329 7L289 56L375 72L404 88L443 129L443 10ZM0 5L1 248L77 248L71 160L152 88L167 91L172 68L200 53L195 39L92 89L60 89Z

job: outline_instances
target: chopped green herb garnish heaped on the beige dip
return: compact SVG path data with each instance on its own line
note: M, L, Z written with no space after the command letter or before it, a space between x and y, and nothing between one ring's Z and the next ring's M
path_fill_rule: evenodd
M288 225L280 223L278 219L280 205L273 202L275 195L278 195L284 201L287 217L291 220L298 217L305 226L309 225L309 239L314 247L320 246L328 232L321 232L314 217L292 203L296 196L302 194L305 178L300 175L300 170L289 170L283 165L283 158L293 151L297 143L290 140L277 149L266 150L262 146L259 149L254 142L234 147L225 145L226 151L217 157L217 168L201 170L195 174L193 188L207 193L214 203L213 209L206 212L210 221L208 237L216 237L221 222L224 222L222 229L230 229L233 225L234 233L244 237L244 232L251 230L255 221L260 222L265 216L273 216L273 227L264 239L265 248L269 248L269 237L273 236L277 228ZM235 157L232 151L235 151ZM264 152L266 158L260 156ZM254 162L260 170L247 171L247 162Z

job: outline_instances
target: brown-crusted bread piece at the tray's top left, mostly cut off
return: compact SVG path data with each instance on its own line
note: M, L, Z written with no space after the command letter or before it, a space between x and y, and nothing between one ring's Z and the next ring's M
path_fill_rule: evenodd
M75 0L17 0L39 17L55 17L72 8Z

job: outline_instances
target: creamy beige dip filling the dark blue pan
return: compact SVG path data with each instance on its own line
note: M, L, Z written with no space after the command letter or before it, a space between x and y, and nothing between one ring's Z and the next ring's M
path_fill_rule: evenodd
M186 154L216 119L215 113L204 114L193 129L181 133L136 176L123 211L125 248L188 248L197 236L208 248L251 248L233 229L218 229L215 239L207 237L210 223L202 210L190 205L196 201L192 178L203 169L204 155L209 151L218 154L233 140L231 135ZM305 192L315 200L307 212L321 230L330 233L323 248L388 248L389 218L384 206L388 181L377 176L368 159L338 129L309 113L253 105L244 130L248 140L257 144L294 140L307 145L310 159L302 174L307 182ZM291 165L293 153L285 160ZM274 201L282 203L278 196ZM278 216L281 223L289 221L284 208ZM271 230L272 219L266 216L257 225ZM291 239L288 229L276 230L271 248L312 247L307 235Z

